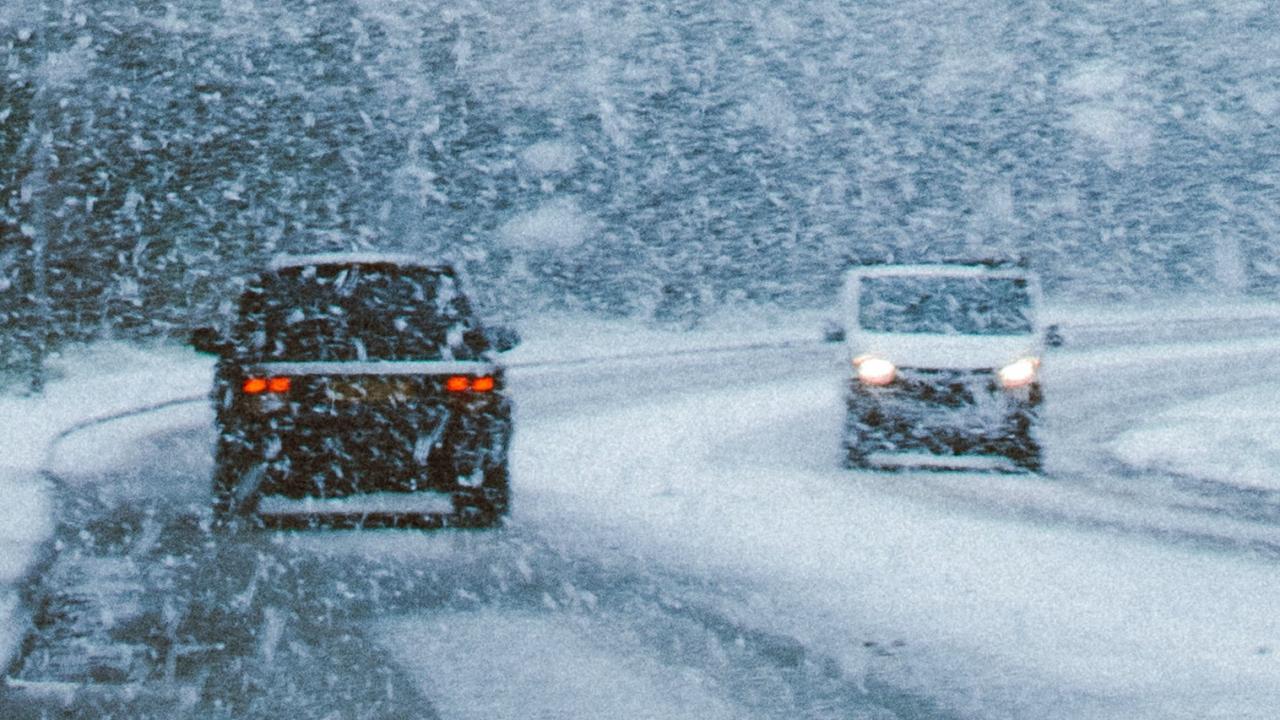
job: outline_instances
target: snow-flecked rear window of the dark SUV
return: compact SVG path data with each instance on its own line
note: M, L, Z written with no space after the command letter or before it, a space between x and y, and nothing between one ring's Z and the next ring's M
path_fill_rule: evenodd
M303 265L251 282L236 338L259 361L475 360L475 329L447 270Z

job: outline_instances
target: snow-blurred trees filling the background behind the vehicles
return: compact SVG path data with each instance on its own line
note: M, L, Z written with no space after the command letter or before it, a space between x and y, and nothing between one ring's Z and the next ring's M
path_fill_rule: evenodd
M920 252L1212 291L1224 243L1267 292L1280 20L1199 5L5 4L3 324L37 88L59 337L175 331L330 247L462 259L513 314L818 304L845 258Z

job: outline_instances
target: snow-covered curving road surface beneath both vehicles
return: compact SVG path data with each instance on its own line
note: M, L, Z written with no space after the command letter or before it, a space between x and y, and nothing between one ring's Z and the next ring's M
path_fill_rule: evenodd
M1272 717L1277 496L1129 470L1107 450L1149 448L1130 430L1224 377L1271 382L1277 348L1051 356L1047 477L838 469L835 347L516 370L516 511L483 533L218 538L201 527L204 410L124 421L143 438L127 452L115 423L52 465L60 552L6 702Z

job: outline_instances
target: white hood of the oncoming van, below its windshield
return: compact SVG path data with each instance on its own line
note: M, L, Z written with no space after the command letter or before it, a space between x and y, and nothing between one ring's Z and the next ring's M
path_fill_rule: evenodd
M1020 357L1039 356L1038 334L945 336L859 332L849 336L849 351L856 357L870 354L899 368L948 370L1004 368Z

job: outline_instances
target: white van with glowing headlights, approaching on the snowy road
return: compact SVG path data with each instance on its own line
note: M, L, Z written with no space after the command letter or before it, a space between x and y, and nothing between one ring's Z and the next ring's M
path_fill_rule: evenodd
M1039 299L1036 274L1012 263L849 270L847 465L915 454L934 465L1011 461L1039 471Z

